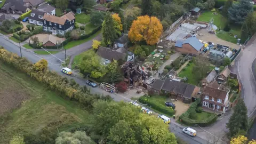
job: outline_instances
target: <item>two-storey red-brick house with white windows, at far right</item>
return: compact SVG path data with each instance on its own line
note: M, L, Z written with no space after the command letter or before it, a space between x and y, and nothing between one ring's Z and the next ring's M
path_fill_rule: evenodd
M202 94L202 107L225 113L229 106L229 91L206 86Z

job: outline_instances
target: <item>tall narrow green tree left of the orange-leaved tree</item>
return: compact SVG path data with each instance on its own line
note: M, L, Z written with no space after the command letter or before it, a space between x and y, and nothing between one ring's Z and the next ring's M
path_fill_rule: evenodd
M117 38L114 28L114 20L109 12L106 13L105 20L102 23L102 36L105 44L112 44Z

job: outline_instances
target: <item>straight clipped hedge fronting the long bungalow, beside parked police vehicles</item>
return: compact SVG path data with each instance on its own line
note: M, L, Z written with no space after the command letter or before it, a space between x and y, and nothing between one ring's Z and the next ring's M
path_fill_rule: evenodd
M175 114L175 110L169 109L166 106L159 104L155 101L151 101L150 98L147 98L146 96L142 96L139 98L139 102L143 103L143 104L147 104L147 106L154 108L158 111L160 111L163 114L167 114L167 115L174 115Z

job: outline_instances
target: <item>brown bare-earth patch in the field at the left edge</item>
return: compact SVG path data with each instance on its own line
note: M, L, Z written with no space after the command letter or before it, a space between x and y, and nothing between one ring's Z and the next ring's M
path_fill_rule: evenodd
M0 76L0 116L19 107L22 101L29 98L29 94L18 83L13 82L6 73Z

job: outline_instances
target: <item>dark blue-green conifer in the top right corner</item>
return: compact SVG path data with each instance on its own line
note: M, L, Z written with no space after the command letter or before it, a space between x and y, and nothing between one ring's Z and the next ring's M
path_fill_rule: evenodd
M237 25L242 25L247 17L247 14L253 12L252 4L249 0L241 0L239 3L233 4L228 9L228 18L231 22Z

